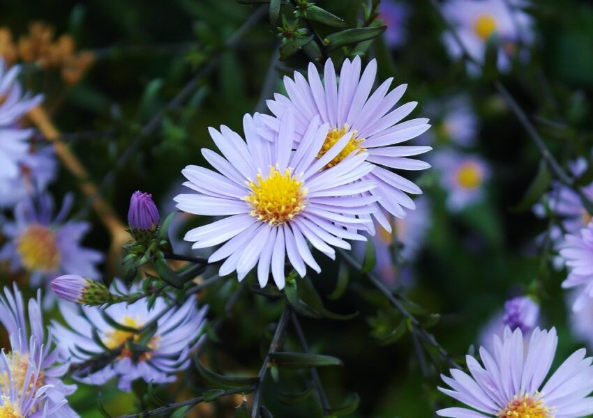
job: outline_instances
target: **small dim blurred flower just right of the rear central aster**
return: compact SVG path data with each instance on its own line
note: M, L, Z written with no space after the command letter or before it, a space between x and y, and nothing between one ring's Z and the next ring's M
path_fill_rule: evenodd
M472 146L478 134L478 118L467 95L458 95L426 106L428 116L436 120L434 129L427 131L429 144L452 142L459 146Z

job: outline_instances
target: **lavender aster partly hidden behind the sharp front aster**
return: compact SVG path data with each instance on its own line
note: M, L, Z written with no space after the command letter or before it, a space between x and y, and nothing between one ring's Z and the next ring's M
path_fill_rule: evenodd
M336 70L329 59L325 63L322 83L315 65L310 63L308 80L300 72L294 72L294 80L284 78L288 97L276 93L274 100L267 101L270 111L276 117L260 115L262 123L267 125L267 129L261 132L265 137L273 139L273 132L280 129L280 118L290 110L294 114L294 145L297 148L310 121L319 117L322 123L329 123L329 132L317 157L324 156L345 134L351 135L343 150L326 167L332 167L354 152L368 153L367 161L373 163L374 168L363 179L371 180L376 185L370 194L377 196L378 205L391 215L405 217L405 208L414 209L414 201L406 193L420 194L421 189L412 181L384 167L414 171L430 167L427 162L408 158L426 153L430 147L398 145L422 134L430 125L426 118L401 122L414 110L417 102L408 102L393 109L402 98L406 84L388 93L393 82L390 78L370 94L376 72L377 61L373 59L361 75L361 60L356 56L352 61L344 61L338 84ZM373 216L386 230L391 230L381 210L377 210Z

